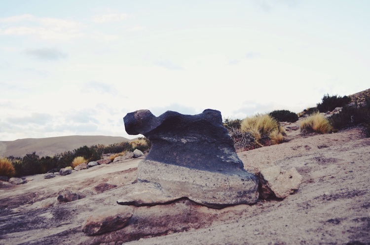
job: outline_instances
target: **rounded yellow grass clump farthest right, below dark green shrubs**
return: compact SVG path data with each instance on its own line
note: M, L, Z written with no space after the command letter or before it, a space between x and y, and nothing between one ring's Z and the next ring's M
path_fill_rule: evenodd
M329 120L319 112L312 114L311 116L300 121L299 126L300 131L312 131L319 134L326 134L333 130Z

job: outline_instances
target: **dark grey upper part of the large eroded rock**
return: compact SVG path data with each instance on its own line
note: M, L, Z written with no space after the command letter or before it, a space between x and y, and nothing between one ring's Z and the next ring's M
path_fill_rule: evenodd
M166 111L158 117L149 110L137 110L123 120L128 134L150 140L147 160L198 170L245 172L218 110L206 109L197 115Z

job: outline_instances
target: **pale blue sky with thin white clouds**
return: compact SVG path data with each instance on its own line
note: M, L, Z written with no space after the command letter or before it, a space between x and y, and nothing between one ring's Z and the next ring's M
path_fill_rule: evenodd
M0 141L133 139L139 109L243 119L370 88L367 0L0 5Z

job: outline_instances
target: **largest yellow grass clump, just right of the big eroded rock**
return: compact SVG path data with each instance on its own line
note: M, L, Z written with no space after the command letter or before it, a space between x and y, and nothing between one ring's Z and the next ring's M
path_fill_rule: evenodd
M263 146L259 142L262 138L269 138L273 144L278 144L286 135L284 128L269 114L245 118L240 124L240 130L243 133L250 133L259 146Z

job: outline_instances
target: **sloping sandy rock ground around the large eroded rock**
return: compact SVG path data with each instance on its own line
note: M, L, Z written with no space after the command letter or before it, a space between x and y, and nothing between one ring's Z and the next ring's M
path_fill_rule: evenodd
M33 180L16 186L2 182L0 244L370 244L370 139L353 128L327 135L291 131L287 140L238 153L252 173L274 165L295 167L303 182L286 199L222 210L188 200L140 207L135 211L139 221L95 237L82 233L82 223L99 207L115 206L130 190L141 159L52 179L27 176ZM116 187L101 190L101 183ZM64 190L83 198L57 204Z

